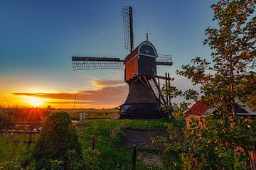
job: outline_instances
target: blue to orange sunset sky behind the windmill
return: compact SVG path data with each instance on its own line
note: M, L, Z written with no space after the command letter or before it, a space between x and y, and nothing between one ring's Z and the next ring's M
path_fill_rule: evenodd
M73 71L72 56L124 59L121 6L132 6L134 46L146 40L171 55L169 72L179 89L192 87L176 69L194 57L210 58L203 45L213 0L3 0L0 6L0 105L114 108L124 103L124 70Z

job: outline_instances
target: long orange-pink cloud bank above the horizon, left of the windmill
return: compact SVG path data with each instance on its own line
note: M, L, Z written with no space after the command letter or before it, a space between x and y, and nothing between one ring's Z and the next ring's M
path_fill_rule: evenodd
M78 104L97 104L97 105L120 105L124 103L128 94L128 86L123 81L117 80L93 80L92 86L97 90L77 91ZM53 104L73 103L75 93L11 93L15 96L33 96L38 98L58 99L61 101L49 101Z

